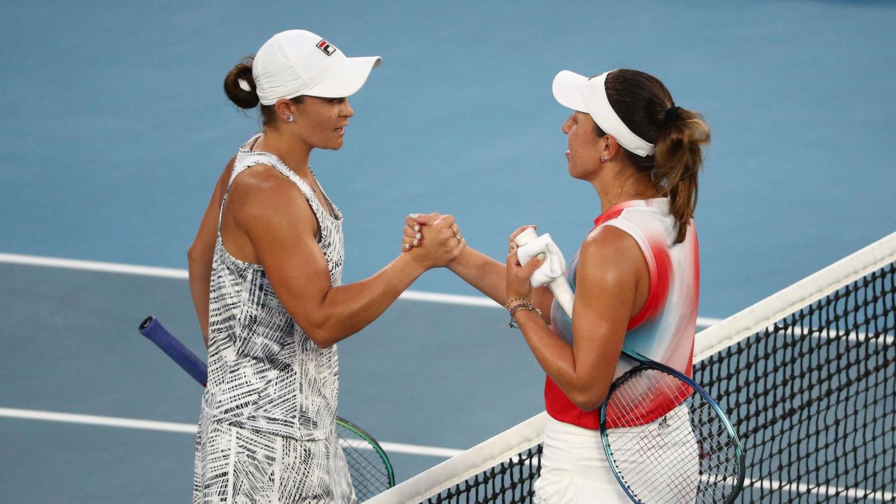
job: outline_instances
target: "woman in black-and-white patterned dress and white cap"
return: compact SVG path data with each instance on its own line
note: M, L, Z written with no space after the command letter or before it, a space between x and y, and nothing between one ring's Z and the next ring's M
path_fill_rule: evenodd
M228 163L188 254L209 349L194 503L355 502L335 431L336 343L464 248L452 217L440 217L419 254L340 285L342 214L308 160L340 149L347 97L380 61L289 30L225 78L237 107L261 102L263 132Z

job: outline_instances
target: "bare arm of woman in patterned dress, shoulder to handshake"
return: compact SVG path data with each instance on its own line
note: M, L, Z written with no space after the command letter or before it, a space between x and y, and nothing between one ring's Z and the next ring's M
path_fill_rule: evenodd
M453 218L445 215L425 231L425 246L401 254L366 280L332 287L314 236L314 213L289 179L270 173L256 170L237 178L225 215L232 212L237 230L246 233L277 298L322 348L357 333L420 274L461 253L460 240L448 230Z

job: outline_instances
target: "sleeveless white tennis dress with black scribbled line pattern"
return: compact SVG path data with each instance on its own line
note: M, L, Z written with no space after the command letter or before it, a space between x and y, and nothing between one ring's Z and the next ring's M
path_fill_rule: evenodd
M255 135L237 153L234 179L266 164L292 180L317 219L333 286L341 282L342 215L332 216L283 161L253 152ZM323 191L322 191L323 192ZM209 299L209 378L196 436L194 504L349 503L356 501L336 437L339 360L289 316L261 265L224 248L218 220Z

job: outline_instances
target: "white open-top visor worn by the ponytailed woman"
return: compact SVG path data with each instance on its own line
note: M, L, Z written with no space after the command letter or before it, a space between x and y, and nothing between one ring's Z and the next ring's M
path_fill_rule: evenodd
M607 100L607 88L604 83L611 72L615 70L589 78L563 70L554 77L554 98L568 109L588 113L594 122L598 123L600 129L607 135L613 135L616 142L625 149L642 158L649 156L654 152L653 143L635 135L628 126L625 126Z

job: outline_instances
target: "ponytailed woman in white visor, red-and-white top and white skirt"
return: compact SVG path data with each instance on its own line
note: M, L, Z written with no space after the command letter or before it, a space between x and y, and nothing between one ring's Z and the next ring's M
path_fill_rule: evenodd
M513 242L529 226L511 235L504 264L468 247L449 267L508 308L547 373L536 502L629 502L603 451L599 406L633 365L620 359L623 344L692 373L699 290L693 217L710 131L643 72L588 78L564 70L553 87L556 100L573 110L563 125L567 169L594 187L601 209L567 270L575 317L566 317L547 287L532 290L530 276L542 261L520 265ZM415 248L415 227L437 218L408 218L402 248Z

